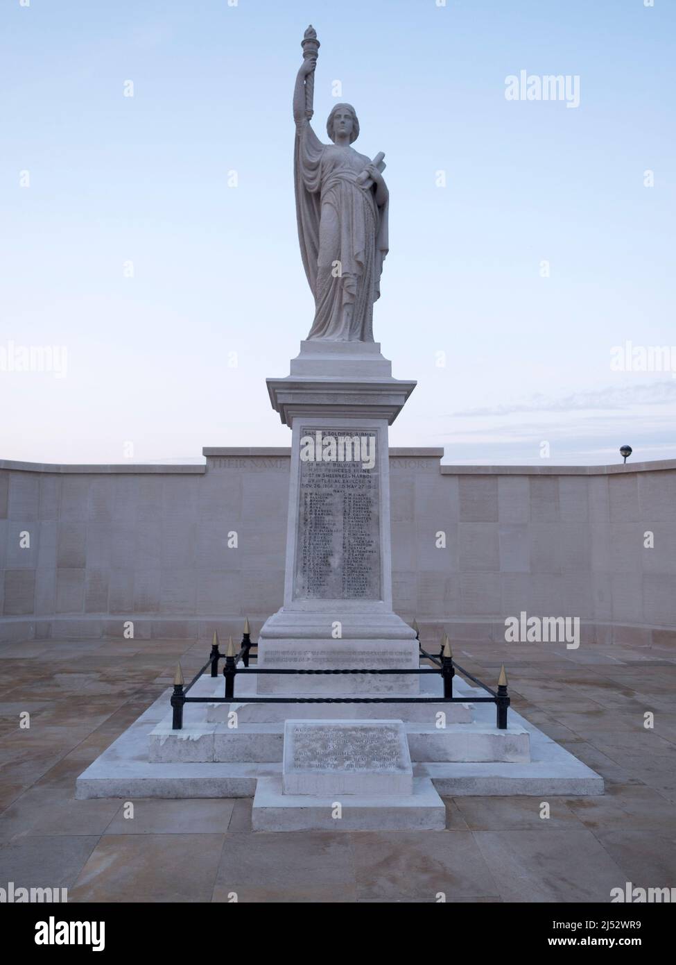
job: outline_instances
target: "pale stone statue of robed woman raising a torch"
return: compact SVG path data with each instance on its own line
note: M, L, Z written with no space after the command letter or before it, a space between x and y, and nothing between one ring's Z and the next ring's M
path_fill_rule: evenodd
M301 256L314 295L308 338L373 342L373 302L388 253L385 155L371 161L350 147L359 135L351 104L335 105L326 124L333 144L321 143L310 124L319 49L311 26L302 46L293 92L293 178Z

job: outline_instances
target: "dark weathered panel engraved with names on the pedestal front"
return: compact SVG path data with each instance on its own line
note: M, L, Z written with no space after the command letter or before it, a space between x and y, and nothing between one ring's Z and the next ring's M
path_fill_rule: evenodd
M294 596L380 599L377 457L367 468L376 435L364 429L301 428L301 438L316 444L314 457L300 462Z

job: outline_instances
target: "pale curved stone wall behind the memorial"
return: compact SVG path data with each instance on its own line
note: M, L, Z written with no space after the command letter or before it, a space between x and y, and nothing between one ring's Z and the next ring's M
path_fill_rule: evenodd
M254 638L284 599L287 449L205 465L0 462L0 639ZM676 644L676 460L441 464L391 449L393 607L425 643L579 617L582 643ZM652 534L652 537L650 536ZM652 542L652 545L650 545Z

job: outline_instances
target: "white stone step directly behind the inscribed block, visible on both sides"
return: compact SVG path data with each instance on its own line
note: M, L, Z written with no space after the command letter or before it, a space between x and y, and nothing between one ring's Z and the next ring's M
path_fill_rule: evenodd
M426 724L405 723L404 729L411 759L415 761L527 763L530 759L528 732L519 725L499 731L487 725L450 724L439 730ZM171 718L167 717L149 735L149 759L153 763L262 763L280 761L283 753L284 722L240 724L236 729L227 724L204 723L173 731Z

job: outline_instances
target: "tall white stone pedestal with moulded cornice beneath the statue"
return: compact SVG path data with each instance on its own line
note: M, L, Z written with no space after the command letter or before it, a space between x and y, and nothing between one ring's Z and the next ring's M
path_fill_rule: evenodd
M291 428L284 606L263 624L258 667L415 669L414 631L392 612L388 427L415 388L377 343L301 343L267 380ZM259 675L260 694L415 694L417 675Z

